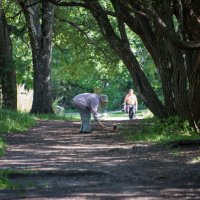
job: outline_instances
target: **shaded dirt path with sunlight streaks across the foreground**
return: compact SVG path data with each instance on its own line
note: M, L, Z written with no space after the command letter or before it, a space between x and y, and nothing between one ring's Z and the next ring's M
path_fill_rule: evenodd
M13 170L15 188L1 189L0 199L200 199L199 148L127 143L111 131L114 123L80 134L80 122L40 121L9 134L0 168Z

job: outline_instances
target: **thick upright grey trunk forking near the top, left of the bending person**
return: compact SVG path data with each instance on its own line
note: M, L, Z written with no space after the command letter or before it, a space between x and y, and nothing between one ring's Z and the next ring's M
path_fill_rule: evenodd
M30 0L28 3L28 5L31 5L34 1ZM50 65L54 7L51 3L42 1L42 19L40 19L39 4L26 8L27 5L21 3L21 6L29 30L33 58L34 96L31 112L51 113L53 109L50 98Z

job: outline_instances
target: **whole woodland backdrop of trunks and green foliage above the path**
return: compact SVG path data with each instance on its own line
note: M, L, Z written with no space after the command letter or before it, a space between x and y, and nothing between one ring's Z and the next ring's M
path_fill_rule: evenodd
M121 107L134 88L158 118L199 131L199 1L0 1L2 107L33 88L32 113L80 92Z

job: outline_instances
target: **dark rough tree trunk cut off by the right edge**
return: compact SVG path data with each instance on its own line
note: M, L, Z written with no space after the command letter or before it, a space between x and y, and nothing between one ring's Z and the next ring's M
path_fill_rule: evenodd
M184 36L191 41L200 41L200 1L183 0ZM191 14L191 12L194 12ZM189 85L189 106L194 126L200 132L200 50L186 52L186 70Z

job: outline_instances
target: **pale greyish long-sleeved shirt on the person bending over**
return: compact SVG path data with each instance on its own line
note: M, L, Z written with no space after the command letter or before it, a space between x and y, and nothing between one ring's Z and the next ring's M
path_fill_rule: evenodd
M93 114L95 120L98 120L98 106L100 104L99 95L93 93L78 94L73 98L74 103L83 108L88 109Z

